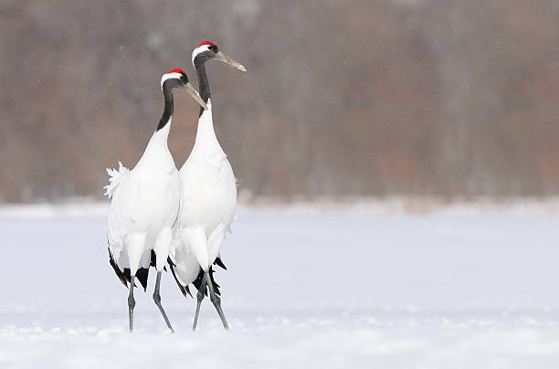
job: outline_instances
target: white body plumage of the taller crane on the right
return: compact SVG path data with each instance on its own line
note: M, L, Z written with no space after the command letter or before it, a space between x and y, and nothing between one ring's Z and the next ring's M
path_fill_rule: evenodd
M181 210L175 232L174 268L186 286L199 268L205 271L219 256L225 232L237 210L237 181L217 142L211 101L198 121L195 145L179 171Z

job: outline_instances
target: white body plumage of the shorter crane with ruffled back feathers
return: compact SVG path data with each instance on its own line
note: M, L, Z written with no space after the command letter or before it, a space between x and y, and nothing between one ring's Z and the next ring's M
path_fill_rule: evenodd
M118 267L131 269L131 275L149 267L152 249L158 271L169 255L180 200L180 179L167 147L170 126L171 121L153 133L132 170L121 163L118 171L107 170L109 249Z

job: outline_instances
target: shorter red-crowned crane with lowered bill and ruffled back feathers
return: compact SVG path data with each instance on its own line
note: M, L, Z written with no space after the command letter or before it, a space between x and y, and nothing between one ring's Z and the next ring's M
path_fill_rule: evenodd
M174 111L173 89L186 90L202 110L206 109L206 102L188 82L183 69L169 70L161 79L163 116L140 161L132 170L123 167L120 162L119 169L107 169L110 185L105 186L105 195L111 198L107 232L109 257L122 284L128 287L130 283L128 312L131 332L135 305L134 279L137 277L145 290L148 271L153 264L157 269L153 300L173 332L159 294L161 272L169 256L181 193L179 174L167 147Z

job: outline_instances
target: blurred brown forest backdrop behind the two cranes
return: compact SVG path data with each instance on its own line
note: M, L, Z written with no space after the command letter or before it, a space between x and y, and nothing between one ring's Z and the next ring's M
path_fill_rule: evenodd
M100 198L205 39L248 69L208 69L244 194L559 195L558 1L0 4L0 202ZM179 167L197 117L176 92Z

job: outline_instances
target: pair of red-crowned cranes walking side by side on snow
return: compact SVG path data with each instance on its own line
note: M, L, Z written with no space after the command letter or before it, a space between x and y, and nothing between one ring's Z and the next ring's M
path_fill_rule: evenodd
M107 169L111 198L108 241L111 266L124 286L129 287L128 311L133 330L134 286L138 279L147 288L150 267L157 270L153 300L167 327L173 327L161 304L162 271L168 263L174 279L186 296L194 284L196 328L200 304L206 295L214 304L224 327L212 265L225 269L219 258L222 241L237 208L237 183L227 155L216 138L206 61L220 60L246 71L237 61L219 51L215 43L204 41L192 53L200 93L188 82L185 71L171 69L161 79L164 109L157 129L136 166L129 170ZM195 145L180 171L167 146L173 120L173 90L185 90L199 105Z

